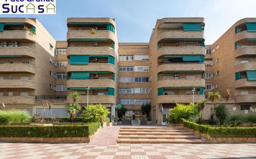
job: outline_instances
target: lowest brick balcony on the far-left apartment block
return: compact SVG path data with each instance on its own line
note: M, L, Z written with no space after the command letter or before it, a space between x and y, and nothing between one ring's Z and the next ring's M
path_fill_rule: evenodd
M0 101L5 105L35 105L35 97L29 96L2 96Z

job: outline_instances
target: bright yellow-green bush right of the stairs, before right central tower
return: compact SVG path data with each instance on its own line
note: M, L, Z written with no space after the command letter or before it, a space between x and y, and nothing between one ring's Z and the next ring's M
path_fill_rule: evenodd
M170 109L169 123L181 123L181 119L198 120L198 111L193 103L190 105L176 104L175 108Z

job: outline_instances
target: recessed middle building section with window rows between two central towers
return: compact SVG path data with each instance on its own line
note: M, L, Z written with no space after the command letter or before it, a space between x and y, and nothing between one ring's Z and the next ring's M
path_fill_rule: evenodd
M150 103L148 43L119 43L119 103L124 119L142 119L142 105ZM144 116L144 119L146 117Z

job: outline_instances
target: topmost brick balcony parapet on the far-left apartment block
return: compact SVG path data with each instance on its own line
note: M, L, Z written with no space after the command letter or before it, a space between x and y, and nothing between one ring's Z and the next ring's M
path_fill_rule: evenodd
M1 40L29 40L35 41L35 35L25 30L4 30L0 32Z

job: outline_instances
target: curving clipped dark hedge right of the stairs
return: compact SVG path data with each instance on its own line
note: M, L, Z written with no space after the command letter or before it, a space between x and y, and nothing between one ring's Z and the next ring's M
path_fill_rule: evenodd
M189 129L211 137L256 137L256 127L213 127L196 124L185 119L182 121Z

